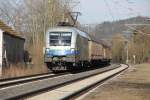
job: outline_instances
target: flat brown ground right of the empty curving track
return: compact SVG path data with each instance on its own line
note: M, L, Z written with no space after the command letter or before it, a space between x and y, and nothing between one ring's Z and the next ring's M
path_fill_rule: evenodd
M130 66L80 100L150 100L150 64Z

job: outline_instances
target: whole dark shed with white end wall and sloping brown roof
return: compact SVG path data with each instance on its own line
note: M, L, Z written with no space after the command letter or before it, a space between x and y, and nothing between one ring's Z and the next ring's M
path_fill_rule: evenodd
M0 21L0 30L1 66L23 62L25 39L2 21Z

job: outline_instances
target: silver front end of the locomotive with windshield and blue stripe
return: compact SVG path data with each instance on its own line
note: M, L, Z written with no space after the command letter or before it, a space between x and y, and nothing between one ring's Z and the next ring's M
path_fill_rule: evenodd
M76 35L73 30L56 28L46 34L45 63L51 68L66 69L75 64ZM59 67L58 67L59 66ZM56 69L55 69L56 70Z

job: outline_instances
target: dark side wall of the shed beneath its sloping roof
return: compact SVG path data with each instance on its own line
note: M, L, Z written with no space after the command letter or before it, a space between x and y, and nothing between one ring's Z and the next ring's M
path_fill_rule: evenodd
M4 33L3 38L5 45L3 48L6 50L8 63L23 62L25 40L6 33Z

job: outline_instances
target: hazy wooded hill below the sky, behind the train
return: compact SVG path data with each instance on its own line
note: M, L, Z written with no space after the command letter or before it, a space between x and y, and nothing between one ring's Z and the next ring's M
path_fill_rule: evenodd
M119 20L115 22L103 22L102 24L99 24L95 27L93 30L96 37L99 37L100 39L103 38L111 38L112 36L120 33L124 34L128 37L131 36L132 32L127 31L133 31L129 29L125 24L150 24L150 21L147 20L147 17L133 17L125 20ZM144 26L140 26L144 27Z

